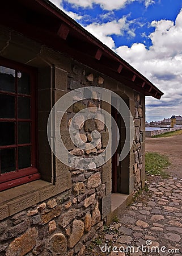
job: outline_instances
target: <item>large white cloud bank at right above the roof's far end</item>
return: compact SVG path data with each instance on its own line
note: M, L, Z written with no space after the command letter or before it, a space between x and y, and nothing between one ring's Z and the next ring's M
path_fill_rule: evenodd
M160 101L147 98L150 113L163 117L182 114L182 9L175 23L159 20L151 26L155 31L149 35L149 49L135 43L132 47L118 47L116 52L165 93Z

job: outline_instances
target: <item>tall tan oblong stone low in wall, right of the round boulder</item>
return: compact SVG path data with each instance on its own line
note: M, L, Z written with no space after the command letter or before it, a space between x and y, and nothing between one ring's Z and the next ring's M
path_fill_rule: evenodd
M73 248L78 243L78 241L81 239L81 237L83 236L83 232L84 232L83 221L74 220L72 233L67 242L67 246L69 248Z

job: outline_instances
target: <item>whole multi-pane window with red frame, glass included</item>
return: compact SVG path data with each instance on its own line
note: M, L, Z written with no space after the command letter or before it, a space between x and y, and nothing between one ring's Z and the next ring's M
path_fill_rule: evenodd
M0 191L40 178L35 78L33 69L0 60Z

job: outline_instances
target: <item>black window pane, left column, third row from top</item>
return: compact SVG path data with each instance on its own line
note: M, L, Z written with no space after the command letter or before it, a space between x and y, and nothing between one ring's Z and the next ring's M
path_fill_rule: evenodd
M0 122L0 146L15 144L15 123Z

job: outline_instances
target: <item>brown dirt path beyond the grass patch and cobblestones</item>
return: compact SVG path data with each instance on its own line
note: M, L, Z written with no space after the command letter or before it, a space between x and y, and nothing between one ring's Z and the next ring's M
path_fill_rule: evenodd
M146 138L146 151L167 155L172 163L168 168L169 173L182 178L182 134L168 138Z

